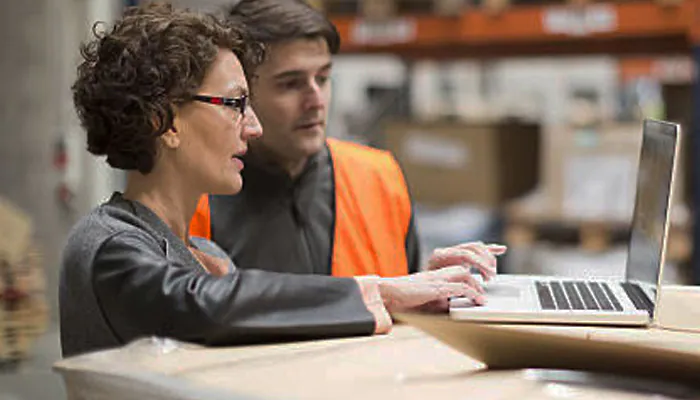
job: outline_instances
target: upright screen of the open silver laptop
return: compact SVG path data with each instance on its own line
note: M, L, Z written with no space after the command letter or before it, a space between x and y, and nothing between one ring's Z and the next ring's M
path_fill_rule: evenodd
M627 280L656 286L665 245L678 125L645 120L627 255Z

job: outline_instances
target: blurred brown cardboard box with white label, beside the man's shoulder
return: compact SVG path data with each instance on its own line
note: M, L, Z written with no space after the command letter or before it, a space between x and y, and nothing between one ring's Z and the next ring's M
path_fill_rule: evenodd
M537 184L539 125L394 121L383 132L416 202L498 206Z

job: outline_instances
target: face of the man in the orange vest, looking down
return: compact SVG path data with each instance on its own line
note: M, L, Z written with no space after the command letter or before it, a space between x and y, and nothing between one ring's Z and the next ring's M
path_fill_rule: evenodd
M323 38L294 39L268 47L251 82L252 104L265 135L262 145L281 162L319 152L324 143L331 54Z

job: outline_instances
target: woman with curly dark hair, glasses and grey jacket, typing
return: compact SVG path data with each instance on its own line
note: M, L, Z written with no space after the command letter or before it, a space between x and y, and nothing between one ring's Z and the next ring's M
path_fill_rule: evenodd
M480 303L467 268L495 273L500 247L436 254L403 278L237 269L188 223L203 193L241 190L240 157L261 135L242 67L257 53L209 16L144 6L83 48L73 87L88 150L129 171L126 190L84 217L63 255L63 354L158 335L208 345L385 333L389 312Z

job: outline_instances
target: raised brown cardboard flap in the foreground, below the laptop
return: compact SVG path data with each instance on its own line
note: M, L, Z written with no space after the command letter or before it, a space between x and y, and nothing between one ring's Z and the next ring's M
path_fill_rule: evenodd
M697 334L656 328L482 324L428 314L398 314L396 318L483 362L490 370L596 371L693 386L700 372ZM659 394L657 390L650 393ZM600 398L626 397L607 394Z

